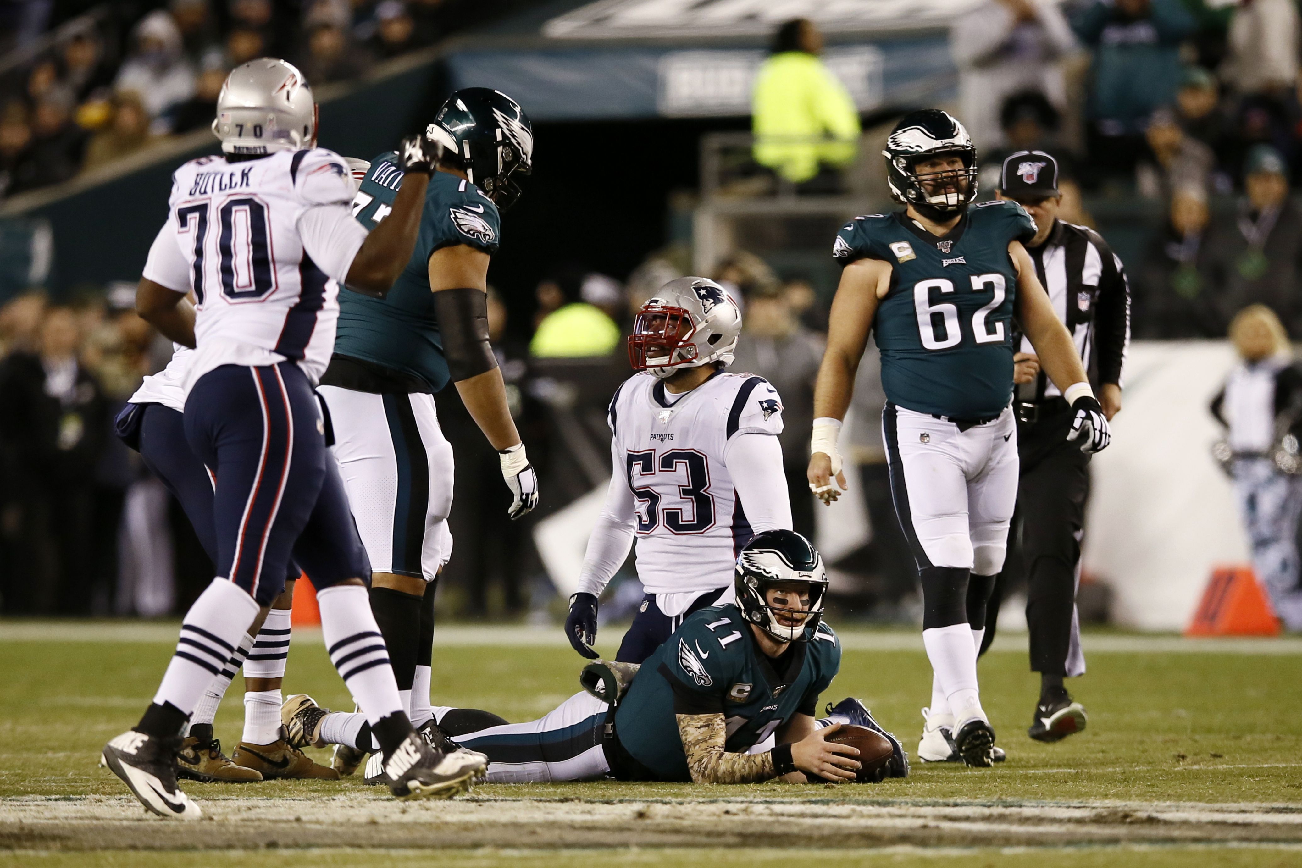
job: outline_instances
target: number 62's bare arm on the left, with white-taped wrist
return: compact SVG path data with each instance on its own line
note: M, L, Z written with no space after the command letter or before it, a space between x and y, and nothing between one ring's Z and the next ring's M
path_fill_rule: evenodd
M891 264L880 259L861 259L845 267L841 282L832 299L827 350L819 367L818 383L814 387L815 420L845 419L854 393L854 373L859 370L859 359L868 345L868 332L878 302L891 290ZM836 453L836 435L840 427L833 423L814 426L814 448L810 457L810 488L824 504L831 504L841 492L832 485L836 476L841 491L848 488L845 474L841 472L841 457ZM819 436L824 435L824 436ZM819 449L823 446L823 449Z

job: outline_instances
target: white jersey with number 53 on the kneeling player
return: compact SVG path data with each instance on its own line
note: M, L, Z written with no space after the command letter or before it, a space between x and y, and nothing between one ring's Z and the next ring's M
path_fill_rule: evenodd
M608 422L612 454L624 457L622 472L637 498L643 587L650 593L729 587L753 532L724 453L737 435L783 432L777 390L760 376L716 373L674 396L663 380L642 372L615 393Z

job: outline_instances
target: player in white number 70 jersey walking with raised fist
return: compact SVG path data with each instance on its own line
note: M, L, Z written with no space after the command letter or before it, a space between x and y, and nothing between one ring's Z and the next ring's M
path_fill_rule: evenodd
M483 770L432 750L402 711L367 601L366 552L328 459L312 387L335 342L341 284L384 294L410 258L440 146L404 142L406 177L370 234L353 219L342 157L316 148L316 105L294 66L259 59L217 98L221 156L173 176L168 220L137 289L141 315L197 351L184 424L215 479L216 578L190 606L152 704L103 764L147 809L195 820L177 786L180 733L204 690L284 590L290 550L322 588L331 660L381 744L398 796L450 796ZM185 301L194 293L198 305Z

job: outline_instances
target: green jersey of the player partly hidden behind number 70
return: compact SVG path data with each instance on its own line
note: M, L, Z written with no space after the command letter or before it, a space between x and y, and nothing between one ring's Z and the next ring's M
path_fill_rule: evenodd
M396 163L393 152L375 157L353 200L353 213L367 229L392 210L402 183L402 169ZM491 256L499 237L497 206L469 181L435 172L424 195L415 250L388 295L339 294L335 354L396 371L405 380L424 383L430 392L445 387L448 362L430 292L430 256L454 245Z

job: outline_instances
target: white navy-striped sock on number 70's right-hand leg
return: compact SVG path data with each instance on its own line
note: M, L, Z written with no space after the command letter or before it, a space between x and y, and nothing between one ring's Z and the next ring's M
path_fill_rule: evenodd
M359 584L336 584L316 593L322 636L331 662L374 726L402 712L389 652L371 614L371 601Z

